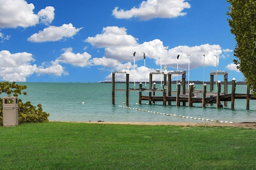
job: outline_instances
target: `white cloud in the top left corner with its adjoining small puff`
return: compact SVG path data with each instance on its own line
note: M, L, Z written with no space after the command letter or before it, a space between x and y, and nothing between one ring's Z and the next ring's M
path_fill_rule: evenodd
M34 14L34 4L28 4L25 0L0 0L0 27L16 28L51 23L54 19L54 8L46 7Z

